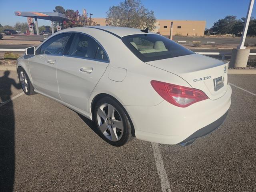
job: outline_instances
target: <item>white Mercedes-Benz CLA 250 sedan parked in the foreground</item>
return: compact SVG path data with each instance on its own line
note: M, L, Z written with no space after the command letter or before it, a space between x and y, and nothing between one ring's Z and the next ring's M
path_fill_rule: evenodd
M17 60L25 94L93 120L113 146L134 136L186 146L212 132L231 104L227 70L227 62L123 27L61 30Z

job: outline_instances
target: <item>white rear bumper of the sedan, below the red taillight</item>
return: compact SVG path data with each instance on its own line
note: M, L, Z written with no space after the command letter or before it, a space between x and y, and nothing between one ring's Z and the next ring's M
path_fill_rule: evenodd
M140 140L162 144L189 144L212 132L224 121L231 104L232 90L216 100L203 100L186 108L167 101L156 106L124 106ZM185 144L184 144L185 145Z

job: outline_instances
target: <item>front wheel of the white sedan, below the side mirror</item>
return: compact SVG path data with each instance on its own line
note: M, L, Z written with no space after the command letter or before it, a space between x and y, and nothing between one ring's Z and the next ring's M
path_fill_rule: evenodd
M30 82L30 79L28 78L28 74L25 72L25 70L21 67L18 68L18 78L20 85L22 86L22 90L26 95L33 95L36 94L34 92L34 87Z

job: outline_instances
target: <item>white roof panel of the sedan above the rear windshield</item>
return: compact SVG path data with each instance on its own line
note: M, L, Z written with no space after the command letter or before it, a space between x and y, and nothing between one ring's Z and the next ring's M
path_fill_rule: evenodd
M133 34L145 34L144 32L140 31L140 29L129 28L129 27L92 26L90 28L97 28L100 30L104 30L106 32L115 34L116 36L119 36L119 37L124 37L127 35L133 35Z

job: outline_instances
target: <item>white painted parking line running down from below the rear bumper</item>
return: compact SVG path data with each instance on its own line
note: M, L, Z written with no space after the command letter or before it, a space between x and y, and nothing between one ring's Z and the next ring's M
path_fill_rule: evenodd
M166 170L164 169L164 162L159 149L159 145L158 143L153 142L151 142L151 144L156 161L156 169L160 177L162 192L171 192L170 183L166 174Z

